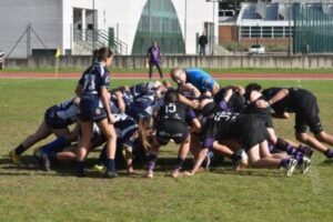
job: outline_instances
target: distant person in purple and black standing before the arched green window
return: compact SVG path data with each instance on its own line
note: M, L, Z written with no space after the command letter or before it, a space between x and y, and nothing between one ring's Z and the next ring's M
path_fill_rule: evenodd
M159 70L160 78L163 79L163 73L161 69L161 49L158 47L158 42L153 41L152 46L148 49L148 67L149 67L149 79L152 78L152 69L155 65Z

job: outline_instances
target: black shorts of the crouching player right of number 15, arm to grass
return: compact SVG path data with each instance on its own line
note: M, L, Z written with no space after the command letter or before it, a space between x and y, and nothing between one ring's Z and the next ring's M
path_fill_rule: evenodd
M270 139L265 123L255 115L244 115L236 120L236 135L241 139L245 151Z

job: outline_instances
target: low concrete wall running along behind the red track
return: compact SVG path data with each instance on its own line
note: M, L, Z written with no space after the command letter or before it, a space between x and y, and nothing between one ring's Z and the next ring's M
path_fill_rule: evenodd
M79 67L84 69L91 62L90 57L61 57L60 67ZM53 67L54 58L30 58L8 59L6 67L9 68L42 68ZM297 68L320 69L332 68L333 56L224 56L224 57L196 57L196 56L173 56L163 58L163 67L200 67L200 68ZM145 57L119 56L114 58L113 67L138 69L145 67Z

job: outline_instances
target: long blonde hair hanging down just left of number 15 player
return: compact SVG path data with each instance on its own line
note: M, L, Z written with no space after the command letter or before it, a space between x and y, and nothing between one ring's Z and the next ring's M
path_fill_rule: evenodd
M139 139L143 148L148 151L152 147L152 142L149 140L148 129L154 129L154 119L152 117L141 118L139 120Z

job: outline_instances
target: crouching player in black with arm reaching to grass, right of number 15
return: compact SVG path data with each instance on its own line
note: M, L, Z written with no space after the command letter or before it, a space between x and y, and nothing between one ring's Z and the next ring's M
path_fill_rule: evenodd
M202 150L189 175L193 175L201 167L209 149L221 145L220 141L225 139L241 140L253 168L283 167L286 175L290 176L297 164L296 160L287 155L270 153L266 141L269 132L255 115L216 111L203 127L202 134Z

